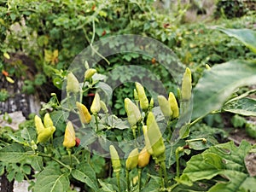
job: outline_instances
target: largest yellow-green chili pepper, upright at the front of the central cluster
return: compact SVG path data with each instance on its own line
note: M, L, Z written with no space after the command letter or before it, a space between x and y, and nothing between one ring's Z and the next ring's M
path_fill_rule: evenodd
M154 119L154 113L152 112L148 113L147 126L148 141L153 151L152 155L154 160L157 163L166 160L166 146L160 132L160 128L157 125L156 120Z

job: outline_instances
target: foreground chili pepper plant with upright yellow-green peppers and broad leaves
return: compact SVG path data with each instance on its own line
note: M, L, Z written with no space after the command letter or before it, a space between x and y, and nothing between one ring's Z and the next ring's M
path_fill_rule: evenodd
M256 52L255 32L218 30ZM236 60L207 67L194 90L187 67L180 89L157 99L135 82L133 97L125 98L126 118L110 113L104 75L87 67L80 81L67 71L61 101L53 93L40 115L19 131L2 131L1 172L9 180L29 180L35 192L75 191L74 186L81 191L255 191L256 178L244 162L255 146L219 144L195 128L210 113L255 115L245 104L255 105L247 98L255 90L236 94L256 83L255 64ZM85 105L84 94L92 87L97 88L93 102Z

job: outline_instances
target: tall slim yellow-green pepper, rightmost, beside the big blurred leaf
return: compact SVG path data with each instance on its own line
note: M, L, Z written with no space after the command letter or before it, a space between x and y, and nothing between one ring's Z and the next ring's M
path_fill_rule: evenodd
M190 99L191 90L192 90L191 71L189 67L187 67L185 73L183 74L183 84L182 84L182 90L181 90L181 96L183 100Z

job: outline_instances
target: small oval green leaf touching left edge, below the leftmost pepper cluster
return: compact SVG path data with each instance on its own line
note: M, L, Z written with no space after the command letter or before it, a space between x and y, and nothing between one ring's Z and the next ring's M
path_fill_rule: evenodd
M22 145L10 144L0 150L0 161L17 163L26 158L26 152Z

